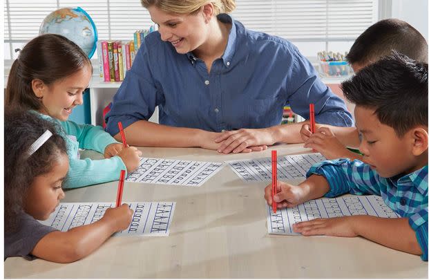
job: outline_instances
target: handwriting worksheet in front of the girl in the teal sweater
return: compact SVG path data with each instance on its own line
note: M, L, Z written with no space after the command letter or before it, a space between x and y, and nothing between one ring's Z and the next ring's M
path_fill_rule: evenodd
M224 166L221 162L142 158L127 182L200 187Z

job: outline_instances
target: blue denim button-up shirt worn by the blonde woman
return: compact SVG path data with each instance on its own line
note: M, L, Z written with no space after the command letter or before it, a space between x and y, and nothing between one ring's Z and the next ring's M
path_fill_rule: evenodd
M352 126L345 103L321 82L296 46L280 37L247 30L229 15L225 53L210 73L192 53L179 54L159 32L144 38L131 70L106 115L107 131L119 132L138 120L149 120L159 106L159 122L207 131L265 128L280 124L283 106L316 122Z

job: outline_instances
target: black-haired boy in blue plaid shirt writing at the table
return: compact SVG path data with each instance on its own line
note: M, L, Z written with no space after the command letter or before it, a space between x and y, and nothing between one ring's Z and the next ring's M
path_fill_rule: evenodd
M296 223L309 235L363 236L428 261L428 64L393 53L341 85L356 104L363 161L327 160L298 186L279 182L277 207L341 194L375 194L401 218L343 216ZM272 204L271 184L265 200Z

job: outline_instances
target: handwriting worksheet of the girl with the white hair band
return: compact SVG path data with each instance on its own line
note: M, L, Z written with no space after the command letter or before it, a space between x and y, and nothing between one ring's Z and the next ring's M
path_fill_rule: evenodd
M130 226L115 236L169 236L175 202L127 203L133 209ZM59 203L44 225L67 232L73 227L98 221L115 203Z

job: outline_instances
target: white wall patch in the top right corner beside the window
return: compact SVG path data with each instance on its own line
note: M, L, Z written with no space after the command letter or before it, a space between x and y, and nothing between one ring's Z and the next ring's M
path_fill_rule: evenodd
M428 41L428 0L392 0L392 17L407 21Z

